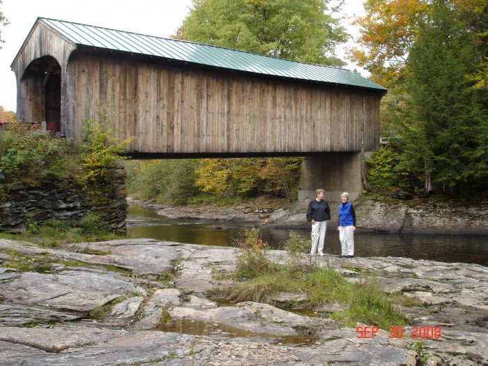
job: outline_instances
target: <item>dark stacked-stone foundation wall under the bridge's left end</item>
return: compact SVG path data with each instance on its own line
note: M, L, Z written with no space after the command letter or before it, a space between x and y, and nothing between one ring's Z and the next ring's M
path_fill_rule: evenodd
M70 220L76 225L90 213L100 215L111 231L125 234L127 191L125 170L113 169L107 193L91 199L73 179L43 180L28 188L11 188L0 201L0 231L20 232L28 222ZM108 202L108 204L107 204Z

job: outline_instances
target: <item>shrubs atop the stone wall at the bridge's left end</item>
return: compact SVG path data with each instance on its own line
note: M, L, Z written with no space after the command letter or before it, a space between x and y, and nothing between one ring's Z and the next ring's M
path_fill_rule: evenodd
M116 161L123 159L132 138L117 142L116 132L109 128L111 116L107 105L98 107L96 118L86 119L86 135L75 146L72 140L41 130L38 125L11 123L0 128L0 201L5 199L12 185L39 186L45 178L72 178L82 185L91 204L102 206L104 193L111 190L108 183ZM99 230L93 218L86 218L88 230ZM27 228L37 234L39 223L29 222Z

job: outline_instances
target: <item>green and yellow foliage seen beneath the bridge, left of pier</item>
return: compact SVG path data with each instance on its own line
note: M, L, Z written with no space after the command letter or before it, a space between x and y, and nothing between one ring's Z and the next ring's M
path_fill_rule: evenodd
M186 204L211 197L253 197L269 193L295 198L301 158L148 160L130 169L128 190L135 199Z

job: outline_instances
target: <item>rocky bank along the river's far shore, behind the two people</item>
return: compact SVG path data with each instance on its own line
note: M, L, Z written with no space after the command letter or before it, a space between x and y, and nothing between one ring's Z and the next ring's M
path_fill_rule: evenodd
M257 199L229 206L165 206L129 199L129 204L152 206L168 218L266 222L274 227L309 227L306 204ZM332 220L338 202L330 202ZM385 231L398 234L488 235L488 201L468 203L363 199L354 202L358 231Z

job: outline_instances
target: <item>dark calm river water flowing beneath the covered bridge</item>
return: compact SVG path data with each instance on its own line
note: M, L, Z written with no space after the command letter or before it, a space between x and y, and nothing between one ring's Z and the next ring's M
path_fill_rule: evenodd
M201 245L234 247L235 239L248 228L238 222L169 219L158 215L154 208L128 207L128 237L153 238ZM247 224L248 225L248 224ZM303 238L308 229L293 229ZM282 249L290 229L262 226L261 236L273 249ZM354 235L357 257L406 257L446 263L472 263L488 266L488 236L379 234L358 232ZM325 251L340 254L337 227L328 227Z

